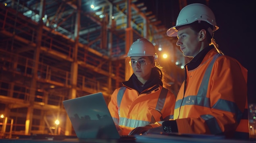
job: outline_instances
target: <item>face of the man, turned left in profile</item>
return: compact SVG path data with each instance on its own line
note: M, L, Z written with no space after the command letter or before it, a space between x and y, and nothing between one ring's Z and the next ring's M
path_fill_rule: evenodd
M180 50L186 57L195 57L201 48L200 35L195 33L190 26L182 26L177 32L178 40L177 46L180 46Z

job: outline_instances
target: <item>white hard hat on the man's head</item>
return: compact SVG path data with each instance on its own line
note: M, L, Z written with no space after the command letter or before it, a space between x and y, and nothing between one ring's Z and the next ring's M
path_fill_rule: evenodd
M175 37L177 36L177 26L191 24L195 21L208 22L209 24L213 25L213 31L219 29L216 24L213 11L211 11L211 9L204 4L194 3L187 5L180 11L176 21L176 26L168 29L166 33L169 37ZM211 31L211 33L213 31Z

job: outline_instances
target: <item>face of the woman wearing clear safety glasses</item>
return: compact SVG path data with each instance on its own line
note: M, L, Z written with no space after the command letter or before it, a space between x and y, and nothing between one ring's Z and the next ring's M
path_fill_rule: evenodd
M155 67L155 63L151 62L148 56L132 56L130 57L132 70L140 80L148 80L151 74L151 69Z

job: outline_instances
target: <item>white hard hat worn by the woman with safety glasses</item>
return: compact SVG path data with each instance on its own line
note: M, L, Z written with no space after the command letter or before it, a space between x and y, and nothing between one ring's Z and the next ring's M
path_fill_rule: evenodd
M131 56L154 56L154 59L157 59L155 46L145 38L140 38L132 43L125 57Z

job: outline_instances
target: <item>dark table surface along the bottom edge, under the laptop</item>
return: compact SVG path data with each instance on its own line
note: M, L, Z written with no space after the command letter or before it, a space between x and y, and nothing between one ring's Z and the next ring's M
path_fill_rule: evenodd
M214 136L164 136L147 134L131 139L0 139L0 143L256 143L256 141L239 141L222 139Z

